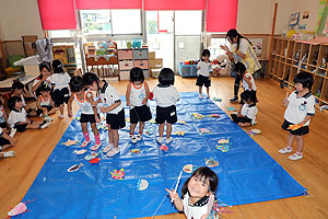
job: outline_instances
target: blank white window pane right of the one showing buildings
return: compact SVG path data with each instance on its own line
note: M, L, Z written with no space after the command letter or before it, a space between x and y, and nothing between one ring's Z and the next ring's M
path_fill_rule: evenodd
M113 34L141 34L141 10L112 10Z

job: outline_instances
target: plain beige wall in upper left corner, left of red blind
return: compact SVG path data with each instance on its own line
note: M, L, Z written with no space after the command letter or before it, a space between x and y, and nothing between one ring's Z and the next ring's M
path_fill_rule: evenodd
M1 0L2 41L21 41L23 35L44 37L37 0Z

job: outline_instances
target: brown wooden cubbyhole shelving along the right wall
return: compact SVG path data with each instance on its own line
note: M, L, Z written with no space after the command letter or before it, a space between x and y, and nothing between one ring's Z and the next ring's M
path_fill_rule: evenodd
M272 42L269 74L281 87L294 89L294 77L300 71L313 74L312 93L318 105L328 104L328 44L276 37ZM323 59L324 58L324 59Z

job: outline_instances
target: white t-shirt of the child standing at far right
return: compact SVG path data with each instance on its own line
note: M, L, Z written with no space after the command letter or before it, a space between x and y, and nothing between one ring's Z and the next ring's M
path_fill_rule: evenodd
M315 114L315 96L308 92L305 95L297 97L297 91L294 91L288 97L289 105L283 116L292 124L302 123L307 115L314 116ZM308 119L304 125L307 126L309 120L311 119Z

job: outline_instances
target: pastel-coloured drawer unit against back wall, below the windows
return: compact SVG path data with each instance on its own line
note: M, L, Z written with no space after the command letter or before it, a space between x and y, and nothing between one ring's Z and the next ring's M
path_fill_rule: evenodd
M130 70L133 67L141 68L144 79L149 79L148 48L118 49L118 62L120 80L130 80Z

